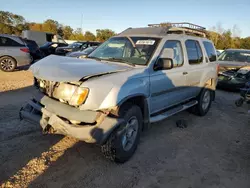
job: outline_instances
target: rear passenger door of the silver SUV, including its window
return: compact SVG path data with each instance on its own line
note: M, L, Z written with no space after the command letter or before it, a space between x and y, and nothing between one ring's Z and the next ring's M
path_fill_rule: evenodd
M187 70L186 84L189 98L196 97L201 89L201 78L206 66L206 59L198 40L188 39L185 41Z

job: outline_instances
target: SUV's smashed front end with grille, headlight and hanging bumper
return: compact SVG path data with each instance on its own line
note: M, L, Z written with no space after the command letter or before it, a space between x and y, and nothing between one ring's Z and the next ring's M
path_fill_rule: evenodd
M40 124L44 133L63 134L102 144L123 123L108 112L80 110L88 96L81 82L52 82L35 78L33 98L20 110L20 119Z

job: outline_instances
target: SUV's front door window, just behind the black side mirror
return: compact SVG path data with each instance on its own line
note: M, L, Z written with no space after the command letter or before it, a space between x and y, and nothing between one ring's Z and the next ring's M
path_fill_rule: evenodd
M173 59L174 67L180 67L183 65L183 62L184 62L183 61L183 51L182 51L180 41L168 40L165 43L164 48L171 48L174 50L174 59Z

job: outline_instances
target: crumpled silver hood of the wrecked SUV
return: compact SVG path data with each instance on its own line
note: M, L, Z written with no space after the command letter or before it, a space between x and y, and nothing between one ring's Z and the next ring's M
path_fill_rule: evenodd
M130 70L126 64L115 64L93 59L75 59L56 55L47 56L30 67L36 78L55 81L73 82L87 76Z

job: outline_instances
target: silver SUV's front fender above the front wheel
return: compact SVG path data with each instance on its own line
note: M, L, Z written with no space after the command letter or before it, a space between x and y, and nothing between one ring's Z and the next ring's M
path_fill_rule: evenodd
M128 80L122 86L113 87L99 108L115 107L136 96L144 96L145 98L149 96L149 77L134 78Z

